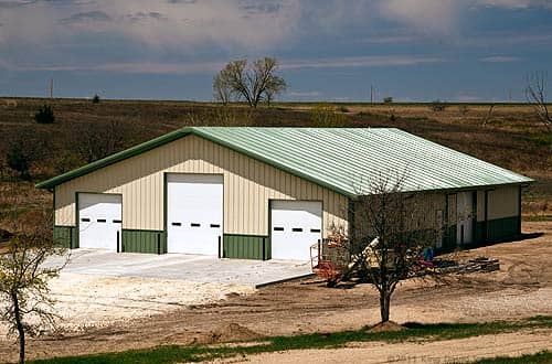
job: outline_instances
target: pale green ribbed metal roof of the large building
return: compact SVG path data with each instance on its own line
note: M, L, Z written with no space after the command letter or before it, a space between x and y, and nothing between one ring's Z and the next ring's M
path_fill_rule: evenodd
M182 128L39 183L57 184L197 135L291 174L354 196L380 175L406 176L404 191L452 190L531 179L395 128Z

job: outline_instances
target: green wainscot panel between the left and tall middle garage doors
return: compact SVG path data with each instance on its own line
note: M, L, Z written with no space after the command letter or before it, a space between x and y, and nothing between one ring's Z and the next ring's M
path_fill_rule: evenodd
M163 231L123 229L124 253L167 253L167 239Z

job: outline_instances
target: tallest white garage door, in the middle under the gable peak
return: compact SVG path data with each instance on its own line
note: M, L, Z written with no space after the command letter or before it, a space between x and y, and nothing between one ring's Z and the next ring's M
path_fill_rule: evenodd
M223 176L167 176L167 250L219 255L223 221Z

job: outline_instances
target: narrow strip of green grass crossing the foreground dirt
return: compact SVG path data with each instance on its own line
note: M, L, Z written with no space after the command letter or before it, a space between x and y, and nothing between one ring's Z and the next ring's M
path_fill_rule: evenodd
M331 349L340 347L350 342L401 342L401 341L440 341L461 339L477 335L497 334L512 332L523 329L550 329L552 328L552 317L534 317L520 321L496 321L489 323L406 323L407 330L397 332L368 333L365 330L342 331L328 334L306 334L297 336L272 336L263 338L258 344L236 345L236 346L178 346L164 345L147 350L132 350L120 353L83 355L71 357L56 357L53 360L34 361L31 363L178 363L199 362L214 360L217 357L229 357L236 355L251 355L265 352L277 352L300 349ZM546 356L548 355L548 356ZM551 358L550 353L541 356ZM497 358L499 360L499 358ZM508 358L509 360L509 358ZM537 357L537 360L539 360ZM549 361L550 362L550 361ZM477 362L479 363L479 362ZM487 363L487 362L481 362ZM502 363L502 362L489 362ZM505 362L505 363L527 363Z

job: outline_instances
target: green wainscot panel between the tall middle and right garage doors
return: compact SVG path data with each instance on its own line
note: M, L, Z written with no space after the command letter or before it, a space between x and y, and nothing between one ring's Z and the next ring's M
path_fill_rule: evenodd
M222 245L223 258L258 260L272 258L268 236L224 234Z

